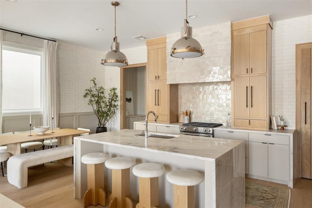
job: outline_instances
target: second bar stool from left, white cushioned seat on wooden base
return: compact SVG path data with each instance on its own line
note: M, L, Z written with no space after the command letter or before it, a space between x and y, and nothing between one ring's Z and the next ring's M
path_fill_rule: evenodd
M130 167L136 165L130 157L114 157L105 162L112 169L112 194L109 196L110 208L132 208L130 194Z

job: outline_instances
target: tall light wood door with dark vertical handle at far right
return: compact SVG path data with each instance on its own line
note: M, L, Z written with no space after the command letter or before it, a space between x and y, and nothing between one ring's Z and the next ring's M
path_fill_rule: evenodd
M312 179L312 42L296 45L296 177ZM301 152L301 155L300 155ZM299 171L298 171L299 169ZM301 170L301 171L300 171Z

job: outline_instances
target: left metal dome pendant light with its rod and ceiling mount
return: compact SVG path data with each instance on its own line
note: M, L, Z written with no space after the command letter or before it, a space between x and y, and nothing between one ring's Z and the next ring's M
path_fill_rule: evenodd
M116 6L119 5L119 2L112 1L111 4L115 7L115 38L111 43L111 51L104 55L103 59L101 60L101 64L105 66L127 66L127 57L121 51L119 51L119 42L117 42L116 36Z

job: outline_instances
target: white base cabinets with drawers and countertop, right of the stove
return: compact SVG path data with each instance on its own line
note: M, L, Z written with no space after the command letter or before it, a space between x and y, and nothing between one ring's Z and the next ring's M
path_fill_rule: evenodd
M215 128L216 138L245 141L245 172L248 177L293 187L294 130L246 130Z

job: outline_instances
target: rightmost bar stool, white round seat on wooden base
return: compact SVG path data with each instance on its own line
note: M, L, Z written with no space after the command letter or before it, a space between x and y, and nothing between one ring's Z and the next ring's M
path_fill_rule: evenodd
M167 180L174 184L174 208L194 208L194 187L203 181L203 175L195 170L177 169L167 174Z

